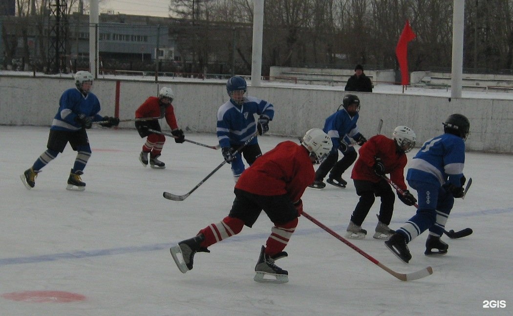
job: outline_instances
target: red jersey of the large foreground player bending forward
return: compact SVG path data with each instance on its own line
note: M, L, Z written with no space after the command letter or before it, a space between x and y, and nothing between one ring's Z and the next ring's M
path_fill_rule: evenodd
M279 143L257 158L235 184L246 192L258 195L288 195L298 201L315 177L309 153L292 141Z

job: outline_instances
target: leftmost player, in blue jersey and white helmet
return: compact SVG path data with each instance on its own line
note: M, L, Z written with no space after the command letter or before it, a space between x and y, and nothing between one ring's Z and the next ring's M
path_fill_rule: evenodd
M28 189L34 187L35 178L41 169L62 153L69 142L77 155L66 188L84 191L86 183L82 182L80 176L84 174L87 160L91 157L86 129L90 129L93 122L102 122L100 125L103 127L117 126L120 123L117 117L98 114L100 101L90 92L93 84L93 75L90 72L77 71L74 80L76 88L64 91L59 100L59 109L53 118L48 135L47 150L20 176Z

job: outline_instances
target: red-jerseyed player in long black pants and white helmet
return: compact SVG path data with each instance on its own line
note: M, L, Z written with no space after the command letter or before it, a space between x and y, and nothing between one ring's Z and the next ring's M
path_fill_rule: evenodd
M388 225L392 219L396 198L390 185L383 178L385 174L390 174L392 182L403 191L402 194L398 192L397 196L404 204L411 206L417 203L417 199L409 193L404 183L406 153L415 147L416 139L412 129L398 126L393 130L392 139L384 135L376 135L369 138L360 148L358 160L351 173L360 201L351 215L346 238L365 238L367 231L362 228L362 223L374 203L374 196L381 198L381 207L376 233L372 237L388 239L395 233Z

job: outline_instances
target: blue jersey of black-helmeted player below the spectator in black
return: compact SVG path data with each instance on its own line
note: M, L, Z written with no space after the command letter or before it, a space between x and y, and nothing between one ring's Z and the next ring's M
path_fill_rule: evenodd
M340 138L343 138L346 144L350 144L351 138L360 135L356 122L360 115L356 113L353 117L347 113L346 109L339 110L326 118L324 123L324 133L328 134L333 143L332 152L337 151L340 145Z

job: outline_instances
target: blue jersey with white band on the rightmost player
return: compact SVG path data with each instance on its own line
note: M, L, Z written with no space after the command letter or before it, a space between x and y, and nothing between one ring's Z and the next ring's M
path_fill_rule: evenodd
M409 163L407 180L461 186L465 164L465 142L459 136L443 134L424 143Z

